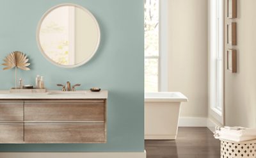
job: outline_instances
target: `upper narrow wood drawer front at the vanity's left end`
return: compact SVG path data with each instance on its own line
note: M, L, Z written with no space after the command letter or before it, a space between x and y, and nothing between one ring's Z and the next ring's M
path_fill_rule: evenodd
M23 101L0 101L0 121L23 121Z

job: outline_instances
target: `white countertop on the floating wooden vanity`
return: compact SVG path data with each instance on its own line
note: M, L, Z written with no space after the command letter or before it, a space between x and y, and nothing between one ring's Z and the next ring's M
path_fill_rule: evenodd
M1 99L108 99L108 91L52 91L45 93L11 93L0 91Z

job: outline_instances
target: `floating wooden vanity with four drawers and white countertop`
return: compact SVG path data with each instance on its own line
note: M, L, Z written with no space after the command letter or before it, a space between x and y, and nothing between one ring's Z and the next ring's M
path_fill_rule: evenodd
M108 91L68 96L0 93L0 143L106 143Z

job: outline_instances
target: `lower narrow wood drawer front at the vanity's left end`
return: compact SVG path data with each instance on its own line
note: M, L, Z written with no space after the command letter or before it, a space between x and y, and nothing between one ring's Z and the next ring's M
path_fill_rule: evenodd
M0 124L0 143L22 143L23 123Z

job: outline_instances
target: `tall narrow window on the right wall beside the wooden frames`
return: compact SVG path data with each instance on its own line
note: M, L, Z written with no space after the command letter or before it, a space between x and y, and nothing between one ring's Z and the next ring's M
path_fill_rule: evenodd
M223 1L211 0L211 109L223 106Z

